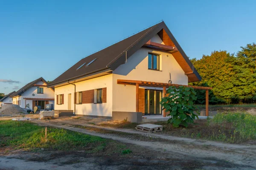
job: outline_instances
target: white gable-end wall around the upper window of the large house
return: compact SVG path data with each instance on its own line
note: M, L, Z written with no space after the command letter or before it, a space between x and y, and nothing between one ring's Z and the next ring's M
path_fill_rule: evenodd
M148 52L160 54L161 71L148 70ZM136 111L135 85L118 85L117 79L168 83L169 73L173 84L188 84L188 77L172 54L140 48L128 58L127 63L113 71L113 111Z

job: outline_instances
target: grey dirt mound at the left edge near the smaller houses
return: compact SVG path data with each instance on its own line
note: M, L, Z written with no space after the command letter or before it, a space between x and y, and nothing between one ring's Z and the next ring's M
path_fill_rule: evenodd
M0 116L9 116L15 114L26 114L23 108L20 108L19 105L3 105L0 109Z

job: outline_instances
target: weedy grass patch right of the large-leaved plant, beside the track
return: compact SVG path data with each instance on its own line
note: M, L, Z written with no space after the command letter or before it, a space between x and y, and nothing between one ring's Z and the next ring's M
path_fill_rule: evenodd
M153 124L163 125L162 133L174 136L229 143L253 140L253 143L256 143L256 116L248 113L218 113L213 119L195 120L188 128L172 127L166 122Z

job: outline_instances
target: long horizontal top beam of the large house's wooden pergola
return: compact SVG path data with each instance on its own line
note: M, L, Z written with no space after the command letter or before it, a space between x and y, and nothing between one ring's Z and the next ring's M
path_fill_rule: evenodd
M202 86L193 86L193 85L179 85L179 84L170 84L170 83L161 83L161 82L148 82L148 81L138 81L138 80L124 80L124 79L117 79L117 84L122 85L144 85L144 86L151 86L151 87L169 87L169 86L185 86L191 87L198 90L211 90L210 87L202 87Z

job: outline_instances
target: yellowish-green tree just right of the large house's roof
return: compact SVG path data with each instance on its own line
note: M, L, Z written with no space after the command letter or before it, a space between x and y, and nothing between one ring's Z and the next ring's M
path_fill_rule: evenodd
M212 87L209 97L212 103L232 102L232 99L235 97L232 83L234 75L233 59L234 55L227 51L214 51L211 55L203 55L199 60L192 59L202 80L201 82L190 84ZM199 93L197 97L203 102L203 99L205 100L205 92L204 96L202 93Z

